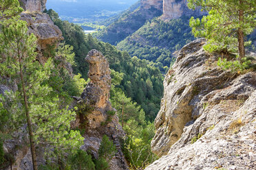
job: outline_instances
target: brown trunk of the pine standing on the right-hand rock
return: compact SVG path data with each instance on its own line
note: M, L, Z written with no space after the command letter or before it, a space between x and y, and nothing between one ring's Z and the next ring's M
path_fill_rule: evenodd
M238 50L239 50L239 61L242 62L242 58L245 57L245 48L244 48L244 32L242 31L242 23L244 23L244 10L242 10L242 0L239 1L239 29L237 31L238 36Z

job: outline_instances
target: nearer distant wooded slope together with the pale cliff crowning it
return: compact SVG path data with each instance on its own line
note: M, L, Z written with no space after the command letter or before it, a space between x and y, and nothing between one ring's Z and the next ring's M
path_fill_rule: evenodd
M131 56L159 62L158 67L170 66L176 50L194 40L189 27L191 16L204 14L189 10L186 0L163 0L162 16L145 23L134 34L118 43L118 49ZM162 65L160 64L162 63Z

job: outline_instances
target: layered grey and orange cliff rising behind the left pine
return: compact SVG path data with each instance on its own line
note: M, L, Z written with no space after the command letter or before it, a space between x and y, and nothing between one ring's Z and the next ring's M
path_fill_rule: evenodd
M59 29L50 16L42 13L45 10L46 0L20 0L24 12L21 13L21 19L28 23L28 32L33 33L37 38L37 52L39 61L44 62L44 51L50 47L57 47L58 43L63 40L61 29Z

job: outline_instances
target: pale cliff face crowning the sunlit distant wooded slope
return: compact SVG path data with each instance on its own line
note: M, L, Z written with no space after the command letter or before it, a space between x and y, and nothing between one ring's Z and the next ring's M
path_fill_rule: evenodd
M186 0L163 0L163 19L178 19L183 16L201 16L200 10L189 10Z

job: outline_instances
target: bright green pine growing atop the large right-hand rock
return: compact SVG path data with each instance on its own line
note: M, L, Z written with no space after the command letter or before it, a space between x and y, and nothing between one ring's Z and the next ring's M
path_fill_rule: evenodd
M238 51L239 61L245 57L246 35L256 27L255 0L189 0L189 8L200 7L209 12L201 19L191 18L195 36L206 38L204 49Z

